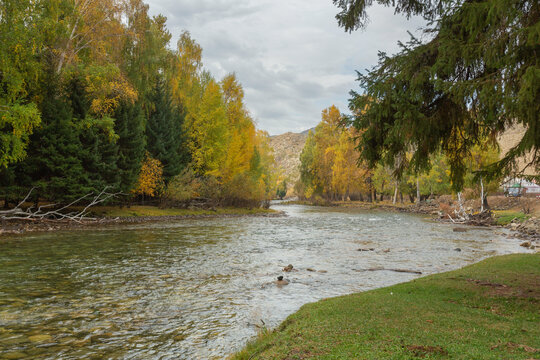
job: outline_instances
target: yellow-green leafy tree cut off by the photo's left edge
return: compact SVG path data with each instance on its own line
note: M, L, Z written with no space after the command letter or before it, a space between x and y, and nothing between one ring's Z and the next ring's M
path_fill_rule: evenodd
M42 71L36 56L42 45L39 7L39 1L0 2L0 168L24 159L41 121L31 101Z

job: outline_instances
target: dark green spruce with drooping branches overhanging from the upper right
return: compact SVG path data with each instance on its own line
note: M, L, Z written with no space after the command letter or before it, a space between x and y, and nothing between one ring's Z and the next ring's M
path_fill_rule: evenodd
M364 94L352 92L352 122L364 131L359 150L370 166L412 152L416 172L442 151L452 186L464 185L466 159L485 138L514 124L526 128L521 141L482 171L494 177L515 170L515 160L532 151L529 166L540 170L540 4L530 0L398 0L407 16L433 20L430 40L412 38L394 55L359 74ZM334 0L346 31L366 26L371 1ZM404 172L395 167L396 174Z

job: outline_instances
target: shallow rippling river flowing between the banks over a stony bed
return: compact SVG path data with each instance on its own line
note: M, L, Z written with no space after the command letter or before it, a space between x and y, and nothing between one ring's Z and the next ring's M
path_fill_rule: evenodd
M0 358L221 359L305 303L423 276L362 270L425 275L526 251L500 229L274 208L288 216L0 238Z

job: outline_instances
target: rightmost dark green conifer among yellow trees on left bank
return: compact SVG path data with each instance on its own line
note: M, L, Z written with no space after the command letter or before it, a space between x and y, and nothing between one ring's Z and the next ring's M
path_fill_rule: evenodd
M146 124L147 150L163 164L166 181L180 174L188 163L185 136L182 130L184 115L171 102L165 84L158 81L151 95L153 111Z

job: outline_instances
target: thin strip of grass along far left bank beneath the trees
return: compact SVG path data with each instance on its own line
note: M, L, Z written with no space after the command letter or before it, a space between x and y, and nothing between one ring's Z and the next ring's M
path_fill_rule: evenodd
M206 216L206 215L254 215L275 213L275 210L261 208L216 208L203 209L160 209L156 206L96 206L92 208L91 216L103 217L142 217L142 216Z

